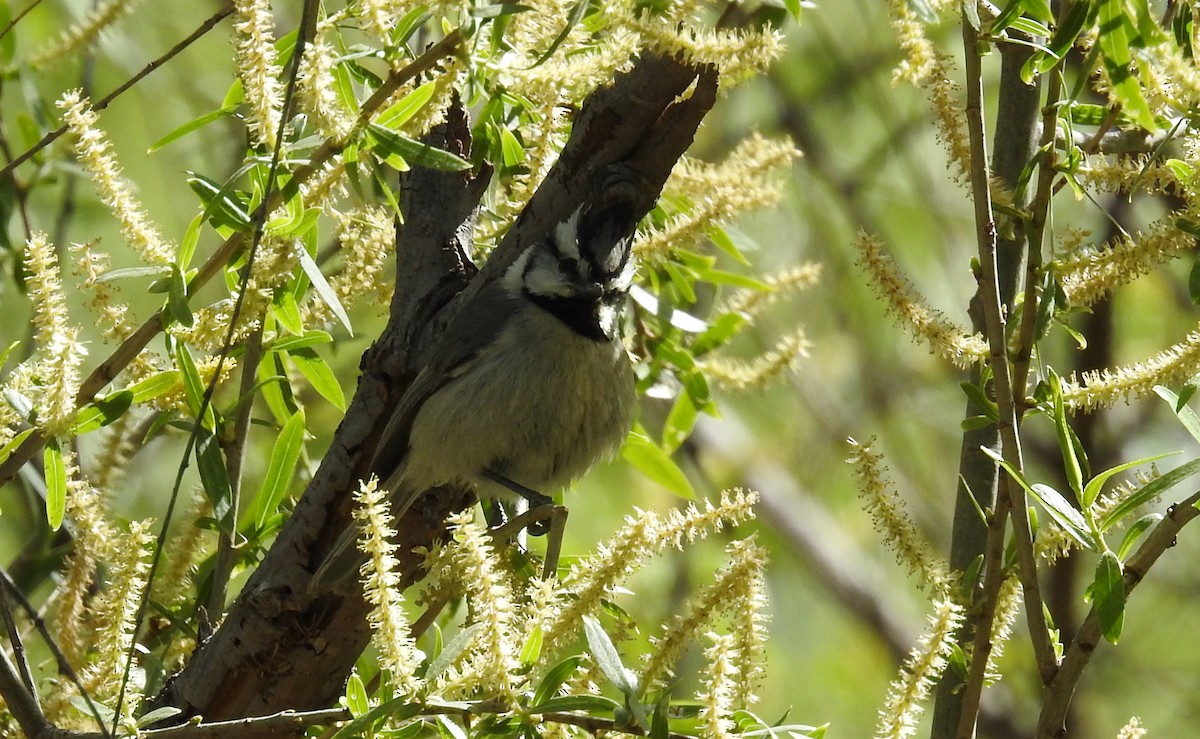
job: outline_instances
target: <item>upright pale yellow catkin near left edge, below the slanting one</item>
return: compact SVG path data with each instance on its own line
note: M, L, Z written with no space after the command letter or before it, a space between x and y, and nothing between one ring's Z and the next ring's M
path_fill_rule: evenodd
M86 352L79 343L79 330L70 325L58 256L44 234L34 234L25 242L25 269L37 330L37 422L47 435L62 438L74 426L76 395L82 381L79 367Z

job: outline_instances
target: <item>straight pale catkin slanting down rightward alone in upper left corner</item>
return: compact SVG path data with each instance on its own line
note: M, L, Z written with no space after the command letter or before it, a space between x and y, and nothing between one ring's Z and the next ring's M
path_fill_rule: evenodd
M175 245L166 241L158 228L142 211L133 196L133 187L121 176L121 168L113 156L112 145L100 130L100 118L79 90L68 90L58 102L62 119L74 138L76 156L91 175L100 199L113 210L121 224L121 236L142 260L150 265L170 264Z

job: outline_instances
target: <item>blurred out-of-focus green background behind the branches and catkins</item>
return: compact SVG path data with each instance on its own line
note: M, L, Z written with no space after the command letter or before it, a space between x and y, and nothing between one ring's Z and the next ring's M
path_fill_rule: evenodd
M52 38L61 13L80 13L85 2L47 2L34 8L17 35L25 44ZM966 305L974 290L970 259L974 253L967 191L948 173L946 156L930 125L925 94L893 85L900 61L884 4L838 0L806 7L799 26L788 28L787 53L763 78L725 95L709 116L692 154L721 158L751 130L788 136L804 151L791 174L785 200L772 212L736 224L740 241L751 245L757 269L769 272L802 262L823 266L821 282L776 307L737 350L754 356L780 336L803 325L811 348L799 370L772 386L745 393L722 393L720 419L706 419L685 446L683 463L697 492L715 497L721 488L760 491L758 521L738 534L757 531L773 552L769 570L772 645L768 677L758 713L774 721L829 722L830 737L868 737L888 683L904 653L924 627L926 602L917 583L883 551L870 519L860 511L857 491L844 459L846 438L875 437L887 455L890 475L907 510L940 551L949 541L949 521L959 457L965 398L961 372L931 356L883 314L864 275L854 265L854 235L868 230L889 246L896 262L928 301L966 324ZM131 18L107 31L91 62L71 59L25 79L7 79L0 90L0 122L11 145L28 145L22 116L37 125L56 118L54 98L85 84L107 92L215 12L220 4L145 2ZM17 8L10 8L16 11ZM281 18L294 13L281 7ZM956 54L953 25L931 29L941 48ZM996 60L988 60L995 74ZM217 124L148 154L151 143L176 126L220 107L232 79L227 31L218 28L155 72L102 114L127 176L138 185L146 210L166 234L179 239L194 214L196 198L186 170L220 179L240 161L244 150L235 126ZM38 108L30 109L29 100ZM1002 114L1003 112L1001 112ZM996 115L995 106L989 115ZM41 118L40 118L41 116ZM35 126L36 127L36 126ZM12 156L13 151L5 152ZM26 166L19 178L37 170ZM61 166L37 170L54 185L38 187L24 208L62 245L100 238L115 247L120 236L90 185L73 180ZM72 184L73 182L73 184ZM1098 234L1105 229L1102 209L1060 196L1056 227L1073 224ZM71 210L62 217L64 204ZM1105 204L1100 204L1105 205ZM1061 215L1060 215L1061 214ZM1139 215L1134 214L1138 221ZM28 304L13 284L13 266L24 240L19 220L10 218L7 248L0 254L0 343L28 336ZM211 247L202 242L200 248ZM17 250L17 251L13 251ZM121 264L115 263L115 266ZM1188 265L1147 276L1121 290L1096 316L1111 330L1106 361L1128 364L1180 341L1195 324L1187 301ZM148 316L156 305L145 295L122 293ZM86 322L77 308L76 317ZM377 335L383 308L360 310L353 317L355 336L342 336L325 358L352 391L359 355ZM1088 324L1091 326L1092 324ZM85 331L90 328L85 323ZM92 359L106 347L90 336ZM1085 366L1066 335L1051 340L1056 367ZM1060 370L1062 371L1062 370ZM648 419L665 411L647 402ZM310 427L331 434L338 413L310 398ZM316 422L313 422L316 419ZM1132 459L1148 453L1184 450L1192 441L1172 426L1166 407L1141 401L1098 414L1094 438L1104 458ZM1054 469L1052 428L1030 427L1031 469ZM328 437L326 437L328 438ZM271 441L257 432L259 457L250 461L253 476L265 464ZM317 440L312 449L323 447ZM85 446L86 449L86 446ZM126 516L161 516L166 492L178 464L181 443L156 441L154 453L139 457L127 477L118 510ZM1187 457L1177 457L1174 465ZM632 506L665 509L679 501L614 462L596 470L568 497L566 553L587 552L620 524ZM16 486L0 491L0 553L11 557L36 528L40 512L28 506ZM1152 734L1188 735L1200 714L1200 671L1188 637L1196 623L1200 577L1194 561L1200 546L1186 531L1178 546L1156 569L1130 603L1120 648L1102 647L1076 697L1079 737L1111 737L1130 715L1140 715ZM668 557L631 584L636 596L623 605L644 624L673 612L689 589L707 583L721 564L719 542L686 555ZM1048 590L1073 603L1082 602L1082 579L1091 563L1056 575ZM1018 624L1006 649L1004 680L988 691L989 710L1007 721L984 727L982 737L1021 735L1036 716L1037 683ZM700 659L698 653L692 659ZM1018 733L1009 733L1013 728Z

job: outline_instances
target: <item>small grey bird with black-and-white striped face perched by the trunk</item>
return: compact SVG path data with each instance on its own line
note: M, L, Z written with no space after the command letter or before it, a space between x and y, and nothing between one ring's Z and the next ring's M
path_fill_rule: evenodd
M444 485L548 503L540 491L557 492L620 447L636 393L619 325L642 214L631 187L606 192L617 194L580 205L534 240L446 326L372 461L395 519ZM366 560L356 541L352 523L310 591L356 582Z

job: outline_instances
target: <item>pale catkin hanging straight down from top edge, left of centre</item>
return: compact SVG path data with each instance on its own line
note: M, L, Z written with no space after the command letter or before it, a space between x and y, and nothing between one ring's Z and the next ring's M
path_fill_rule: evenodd
M234 0L234 18L238 73L250 106L247 124L254 144L271 149L283 112L271 4L269 0Z

